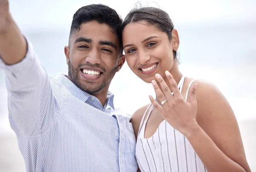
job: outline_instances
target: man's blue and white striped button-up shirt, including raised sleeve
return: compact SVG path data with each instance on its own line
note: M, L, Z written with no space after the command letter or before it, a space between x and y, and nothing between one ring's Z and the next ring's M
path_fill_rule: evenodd
M130 116L105 106L63 74L49 77L28 42L6 73L9 120L28 172L136 172Z

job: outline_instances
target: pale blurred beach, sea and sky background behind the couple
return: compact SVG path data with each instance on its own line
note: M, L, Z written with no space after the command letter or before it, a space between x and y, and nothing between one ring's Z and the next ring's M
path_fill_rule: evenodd
M11 13L49 75L67 74L64 46L73 14L81 6L102 3L124 19L137 1L10 0ZM247 161L256 172L256 1L155 0L172 18L180 36L180 69L209 80L224 94L239 123ZM137 78L127 64L116 73L110 91L115 106L133 114L154 95L151 84ZM136 98L140 97L140 98ZM15 133L8 120L4 72L0 70L0 172L25 172Z

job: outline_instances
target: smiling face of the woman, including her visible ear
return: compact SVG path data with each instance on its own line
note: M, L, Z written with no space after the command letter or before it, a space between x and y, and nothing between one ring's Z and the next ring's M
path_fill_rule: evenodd
M155 74L164 77L165 71L171 72L173 51L177 51L179 44L177 31L174 30L170 41L166 32L144 20L125 26L122 40L126 61L140 79L151 83Z

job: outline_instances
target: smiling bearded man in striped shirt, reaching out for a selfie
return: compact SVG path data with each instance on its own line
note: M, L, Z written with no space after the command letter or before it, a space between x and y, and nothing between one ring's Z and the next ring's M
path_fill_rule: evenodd
M121 23L108 6L76 11L65 47L68 75L52 78L17 28L8 0L0 0L0 68L28 172L137 171L130 117L115 112L108 92L125 62Z

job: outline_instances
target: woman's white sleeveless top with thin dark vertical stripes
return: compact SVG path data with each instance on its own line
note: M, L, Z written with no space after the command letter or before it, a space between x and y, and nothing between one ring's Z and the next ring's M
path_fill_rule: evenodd
M185 77L182 77L178 84L180 92L184 79ZM189 83L189 87L193 81ZM187 94L188 92L186 97ZM160 123L154 135L150 138L144 138L145 126L152 110L153 105L150 104L141 120L137 137L136 158L140 171L207 172L189 141L166 120ZM148 117L143 123L146 114L148 114Z

